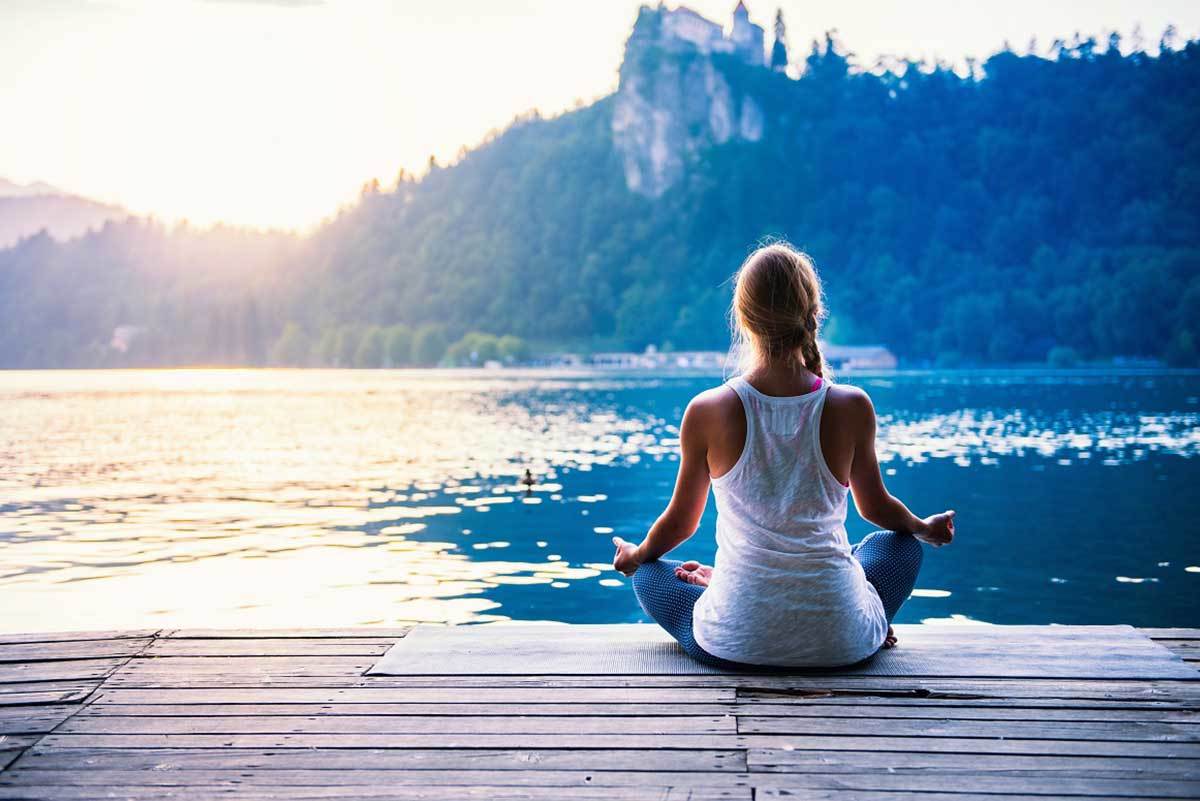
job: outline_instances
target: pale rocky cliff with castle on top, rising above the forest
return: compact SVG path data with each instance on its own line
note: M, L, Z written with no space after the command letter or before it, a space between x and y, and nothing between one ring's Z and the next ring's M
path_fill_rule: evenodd
M758 141L760 103L739 94L732 68L762 68L762 36L746 44L688 8L643 7L625 47L612 116L630 191L656 198L700 150Z

